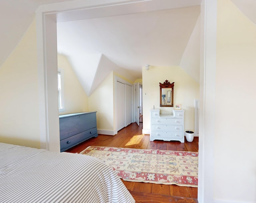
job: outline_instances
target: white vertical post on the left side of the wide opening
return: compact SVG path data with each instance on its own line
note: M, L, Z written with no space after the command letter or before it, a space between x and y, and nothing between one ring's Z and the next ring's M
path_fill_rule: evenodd
M53 16L37 13L40 147L60 152L57 29Z

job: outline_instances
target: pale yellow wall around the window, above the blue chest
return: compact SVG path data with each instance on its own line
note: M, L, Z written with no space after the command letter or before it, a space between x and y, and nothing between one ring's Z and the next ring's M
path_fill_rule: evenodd
M64 75L64 111L62 114L88 111L88 97L78 81L68 59L58 54L58 69Z

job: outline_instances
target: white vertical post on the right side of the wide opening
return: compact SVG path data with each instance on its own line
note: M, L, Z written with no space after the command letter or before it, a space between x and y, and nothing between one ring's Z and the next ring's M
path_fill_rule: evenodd
M198 203L213 202L217 0L202 0Z

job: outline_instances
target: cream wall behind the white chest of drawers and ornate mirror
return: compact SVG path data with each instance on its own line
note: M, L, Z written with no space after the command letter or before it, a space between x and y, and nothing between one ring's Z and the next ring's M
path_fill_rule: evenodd
M159 83L174 82L174 104L185 110L185 130L194 131L194 99L199 99L199 84L182 68L153 67L142 69L143 87L143 131L150 129L150 109L160 108L160 113L171 114L173 107L160 107Z

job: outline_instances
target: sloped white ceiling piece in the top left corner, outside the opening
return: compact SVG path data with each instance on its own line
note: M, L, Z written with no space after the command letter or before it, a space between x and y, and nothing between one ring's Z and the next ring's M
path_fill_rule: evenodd
M42 4L66 0L1 0L0 2L0 66L22 39Z

